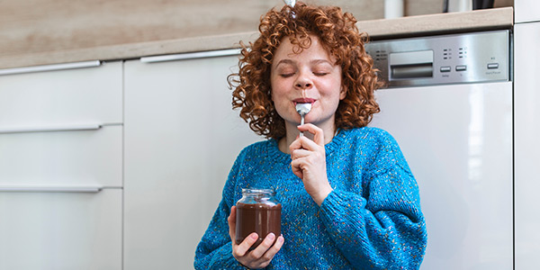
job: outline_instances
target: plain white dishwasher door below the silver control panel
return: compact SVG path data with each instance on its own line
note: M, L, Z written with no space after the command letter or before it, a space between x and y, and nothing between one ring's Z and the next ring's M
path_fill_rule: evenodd
M512 83L383 89L428 228L421 269L512 269Z

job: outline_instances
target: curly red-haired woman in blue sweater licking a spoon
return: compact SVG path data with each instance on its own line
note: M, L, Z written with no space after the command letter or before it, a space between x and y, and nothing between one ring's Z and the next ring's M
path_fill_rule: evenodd
M419 189L392 136L366 127L379 83L355 23L338 7L298 3L268 12L243 45L233 107L267 140L238 155L195 268L419 268ZM296 103L311 103L301 126ZM255 232L231 241L246 187L275 188L283 206L282 235L253 250Z

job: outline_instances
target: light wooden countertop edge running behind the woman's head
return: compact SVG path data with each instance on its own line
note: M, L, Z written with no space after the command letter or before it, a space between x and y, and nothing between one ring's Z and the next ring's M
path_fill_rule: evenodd
M361 21L357 23L357 26L360 31L367 32L372 40L381 40L466 31L511 29L513 24L513 8L503 7L464 13L429 14L390 20ZM257 31L252 31L188 39L158 40L85 49L10 55L0 58L0 68L32 67L86 60L130 59L214 49L235 49L239 48L239 40L247 43L256 38Z

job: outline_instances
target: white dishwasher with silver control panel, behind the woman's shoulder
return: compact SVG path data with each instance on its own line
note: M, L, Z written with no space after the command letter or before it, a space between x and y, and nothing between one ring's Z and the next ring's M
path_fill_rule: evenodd
M370 126L398 141L419 184L421 269L513 268L511 33L366 44L385 87Z

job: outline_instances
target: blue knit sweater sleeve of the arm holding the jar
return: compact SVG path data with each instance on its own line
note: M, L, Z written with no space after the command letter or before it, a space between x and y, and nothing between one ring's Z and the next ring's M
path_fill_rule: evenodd
M218 209L215 211L208 229L204 232L201 242L199 242L195 250L193 264L195 269L246 269L232 256L232 244L227 221L230 207L234 202L236 176L241 163L240 157L242 157L242 153L240 153L229 172Z

